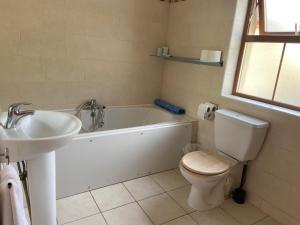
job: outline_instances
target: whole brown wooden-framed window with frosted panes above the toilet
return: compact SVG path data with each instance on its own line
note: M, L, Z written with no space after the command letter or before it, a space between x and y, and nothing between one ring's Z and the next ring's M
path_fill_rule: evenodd
M249 0L233 95L300 111L299 9L299 0Z

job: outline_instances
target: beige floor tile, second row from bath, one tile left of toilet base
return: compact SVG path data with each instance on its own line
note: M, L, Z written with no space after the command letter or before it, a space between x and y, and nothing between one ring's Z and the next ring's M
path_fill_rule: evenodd
M186 214L167 194L141 200L139 204L155 224L165 223Z

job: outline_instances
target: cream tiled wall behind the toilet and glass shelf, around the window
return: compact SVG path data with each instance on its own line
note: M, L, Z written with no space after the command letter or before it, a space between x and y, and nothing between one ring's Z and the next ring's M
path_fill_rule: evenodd
M235 6L235 0L172 4L167 35L172 53L197 57L200 49L221 49L226 62ZM199 103L211 101L270 121L267 141L250 166L249 199L282 224L300 224L300 119L221 97L224 73L224 68L167 62L162 98L184 106L192 116ZM213 123L199 122L198 141L204 148L214 148Z

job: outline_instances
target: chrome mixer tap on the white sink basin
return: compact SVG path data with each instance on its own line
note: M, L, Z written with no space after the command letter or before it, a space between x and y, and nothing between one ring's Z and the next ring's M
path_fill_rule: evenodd
M10 105L7 110L7 120L4 125L0 123L0 126L3 127L4 129L14 128L21 118L34 114L34 110L22 111L21 106L23 105L32 105L32 104L27 102L21 102L21 103L15 103Z

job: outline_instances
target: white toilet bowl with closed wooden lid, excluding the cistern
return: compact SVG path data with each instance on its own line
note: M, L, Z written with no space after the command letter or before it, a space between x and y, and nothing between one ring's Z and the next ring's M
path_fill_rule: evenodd
M221 205L224 202L226 180L235 164L236 161L211 151L201 150L185 155L179 168L192 185L188 204L199 211Z

